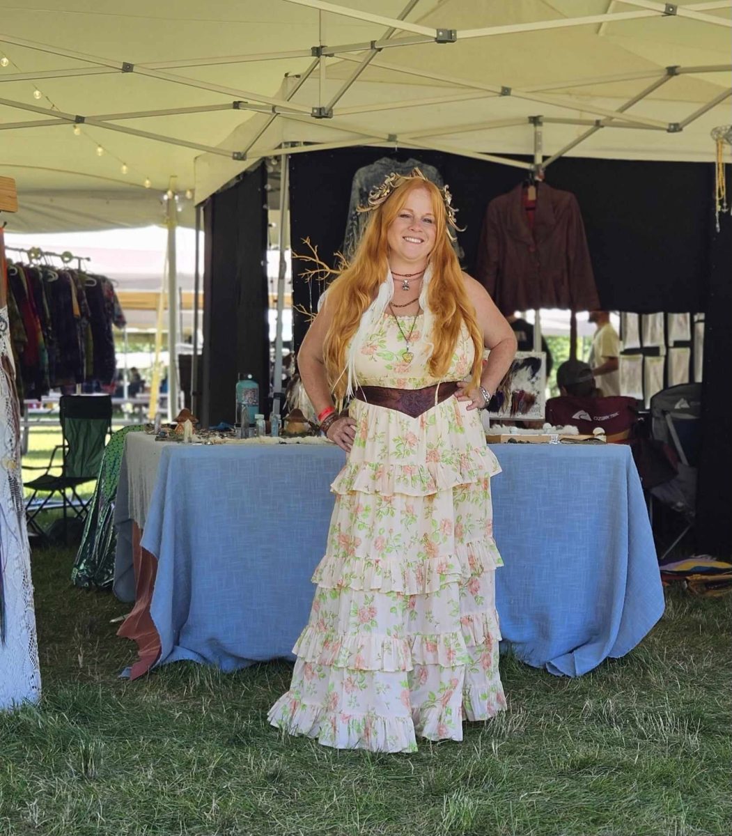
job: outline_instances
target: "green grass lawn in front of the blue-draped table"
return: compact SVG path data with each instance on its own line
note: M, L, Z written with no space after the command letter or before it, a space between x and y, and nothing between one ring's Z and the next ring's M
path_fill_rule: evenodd
M0 833L727 836L732 599L668 594L636 650L557 678L501 660L509 709L413 755L284 737L291 666L119 679L110 594L33 554L43 700L0 714ZM499 570L500 571L500 570Z

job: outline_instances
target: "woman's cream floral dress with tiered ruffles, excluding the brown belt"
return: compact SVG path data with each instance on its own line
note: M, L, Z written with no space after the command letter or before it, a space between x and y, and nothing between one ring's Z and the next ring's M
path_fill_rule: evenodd
M421 315L413 346L420 327ZM404 348L384 316L358 353L359 384L440 382L404 363ZM464 328L443 380L469 375L473 352ZM313 609L274 726L332 747L414 752L415 735L462 740L463 720L505 708L490 487L501 468L466 406L452 396L413 418L351 402L356 438L332 485Z

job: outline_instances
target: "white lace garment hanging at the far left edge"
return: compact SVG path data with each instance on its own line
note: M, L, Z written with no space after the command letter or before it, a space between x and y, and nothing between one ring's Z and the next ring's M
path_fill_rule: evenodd
M0 711L38 701L41 676L23 507L20 415L8 308L0 308Z

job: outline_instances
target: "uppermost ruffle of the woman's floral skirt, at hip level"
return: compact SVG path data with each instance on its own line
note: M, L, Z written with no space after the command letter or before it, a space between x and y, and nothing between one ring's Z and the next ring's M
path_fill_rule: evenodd
M455 464L428 461L426 465L348 461L331 484L333 493L396 493L426 497L459 485L480 482L501 472L496 456L487 447L472 447Z

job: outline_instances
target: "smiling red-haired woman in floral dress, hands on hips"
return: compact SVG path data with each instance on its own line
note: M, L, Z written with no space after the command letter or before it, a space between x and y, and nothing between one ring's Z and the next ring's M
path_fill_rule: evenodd
M297 358L348 458L290 690L269 719L327 746L414 752L416 735L462 740L463 720L506 706L490 489L501 468L477 410L516 339L460 270L446 188L418 169L391 175L367 210Z

